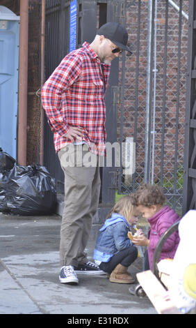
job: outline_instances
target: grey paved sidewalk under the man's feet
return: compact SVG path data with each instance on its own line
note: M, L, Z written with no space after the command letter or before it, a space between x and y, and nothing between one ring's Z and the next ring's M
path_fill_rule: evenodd
M78 275L79 285L58 280L60 216L0 213L0 314L155 314L147 297L132 296L129 285L106 276ZM100 225L88 242L90 259ZM129 271L141 269L138 258Z

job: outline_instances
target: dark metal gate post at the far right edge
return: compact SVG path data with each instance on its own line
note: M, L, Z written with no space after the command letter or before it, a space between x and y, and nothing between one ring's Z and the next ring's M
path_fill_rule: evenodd
M196 209L196 1L190 0L188 24L188 70L186 133L183 181L183 214Z

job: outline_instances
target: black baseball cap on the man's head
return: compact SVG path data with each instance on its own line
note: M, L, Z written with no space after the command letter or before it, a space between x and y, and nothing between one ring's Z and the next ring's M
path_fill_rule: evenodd
M132 54L131 50L126 47L128 33L121 24L116 22L108 22L98 29L97 34L99 36L105 36L105 38L111 40L115 45L123 50L129 51Z

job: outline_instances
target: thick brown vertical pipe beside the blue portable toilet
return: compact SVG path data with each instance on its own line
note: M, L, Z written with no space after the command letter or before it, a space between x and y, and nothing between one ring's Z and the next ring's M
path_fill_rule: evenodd
M20 0L17 163L26 165L28 87L28 1Z

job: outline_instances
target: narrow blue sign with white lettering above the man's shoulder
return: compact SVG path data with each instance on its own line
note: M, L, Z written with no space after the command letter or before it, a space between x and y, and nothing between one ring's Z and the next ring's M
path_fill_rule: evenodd
M70 52L76 49L77 0L70 3Z

